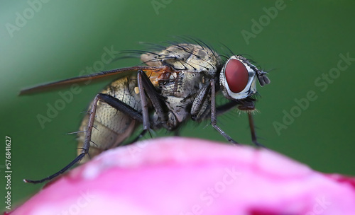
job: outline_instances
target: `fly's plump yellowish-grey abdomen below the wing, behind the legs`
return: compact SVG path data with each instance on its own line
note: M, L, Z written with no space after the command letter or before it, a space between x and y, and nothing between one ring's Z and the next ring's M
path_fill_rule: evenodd
M138 112L141 112L141 100L136 91L134 91L136 86L136 78L133 78L133 76L124 77L110 83L101 93L112 95L136 109ZM91 111L92 105L93 104L89 107L89 112ZM80 131L87 129L88 115L89 114L84 117ZM112 108L110 105L107 105L107 103L99 101L94 120L94 128L92 129L91 140L94 144L92 143L89 148L90 156L96 156L104 150L118 146L131 136L137 126L138 122L133 120L129 115L120 112L116 108ZM85 132L78 134L78 148L82 147L84 136Z

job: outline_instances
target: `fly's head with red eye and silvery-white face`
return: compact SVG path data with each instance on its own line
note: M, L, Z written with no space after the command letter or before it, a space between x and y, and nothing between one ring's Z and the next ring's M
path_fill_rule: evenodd
M255 94L256 79L261 86L270 83L266 72L259 70L241 55L230 57L219 75L222 92L229 100L240 100Z

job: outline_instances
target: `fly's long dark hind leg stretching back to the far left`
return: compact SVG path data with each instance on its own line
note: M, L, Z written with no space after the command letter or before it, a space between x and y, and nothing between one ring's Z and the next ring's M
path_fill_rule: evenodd
M126 103L123 103L121 100L114 98L111 95L99 93L95 96L93 103L92 103L92 108L89 112L89 122L87 123L87 129L85 131L85 139L84 139L84 145L82 147L81 153L68 165L66 165L64 168L59 170L57 173L54 173L53 175L48 176L47 178L43 178L41 180L27 180L24 179L24 182L29 182L33 184L45 182L47 180L51 180L58 175L65 173L66 170L72 167L72 165L75 165L75 163L79 162L82 158L84 158L85 155L88 154L89 152L89 147L90 147L90 142L91 141L91 135L92 135L92 128L94 127L94 120L95 120L95 114L96 114L96 109L97 109L97 103L99 100L102 100L104 103L107 103L113 108L116 108L117 110L124 112L126 115L129 115L135 120L138 120L139 122L143 122L143 117L141 113L137 112L134 108L131 108L131 106L127 105Z

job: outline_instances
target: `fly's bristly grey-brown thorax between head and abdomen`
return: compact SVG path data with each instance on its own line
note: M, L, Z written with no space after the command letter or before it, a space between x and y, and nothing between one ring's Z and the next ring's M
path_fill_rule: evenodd
M153 85L159 88L168 107L167 129L175 129L181 122L190 119L191 106L197 93L209 84L209 79L218 79L217 74L222 67L222 61L214 50L187 43L171 45L161 52L147 52L141 55L141 60L148 66L170 68L168 72L151 76ZM209 103L209 100L205 103ZM202 105L204 109L207 106Z

